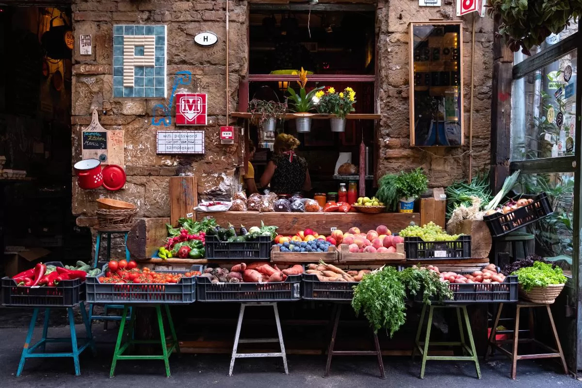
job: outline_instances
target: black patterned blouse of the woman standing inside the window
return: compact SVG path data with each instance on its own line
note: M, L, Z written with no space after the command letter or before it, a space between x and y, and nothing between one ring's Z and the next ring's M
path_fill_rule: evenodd
M304 158L293 155L293 162L289 162L289 155L275 154L271 161L277 166L271 178L271 192L292 195L303 190L307 176L307 161Z

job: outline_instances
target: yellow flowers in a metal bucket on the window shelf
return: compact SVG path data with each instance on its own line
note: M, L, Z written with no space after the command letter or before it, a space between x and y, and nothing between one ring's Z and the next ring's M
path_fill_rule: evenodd
M354 112L354 104L356 104L356 92L350 87L345 90L336 92L334 88L329 88L327 91L315 92L315 101L317 101L317 111L320 113L328 113L335 115L331 118L331 131L343 132L346 130L346 115Z

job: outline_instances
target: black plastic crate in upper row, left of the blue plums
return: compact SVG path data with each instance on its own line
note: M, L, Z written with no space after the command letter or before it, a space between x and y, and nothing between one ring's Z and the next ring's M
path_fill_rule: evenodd
M273 241L270 236L260 236L254 241L220 241L217 236L206 236L207 259L271 259L271 246Z

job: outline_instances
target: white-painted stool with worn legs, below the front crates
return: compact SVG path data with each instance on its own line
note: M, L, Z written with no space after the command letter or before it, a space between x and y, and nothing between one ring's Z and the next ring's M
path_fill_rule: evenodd
M240 329L243 325L244 309L249 306L272 306L275 312L275 322L277 325L278 338L240 338ZM269 343L278 342L281 346L281 352L278 353L237 353L239 343ZM254 357L282 357L283 367L285 368L285 374L289 375L289 369L287 367L287 354L285 353L285 344L283 343L283 334L281 332L281 321L279 320L279 310L277 309L276 302L254 302L254 303L241 303L239 320L236 323L236 334L235 334L235 344L232 347L232 357L230 357L230 368L228 370L228 375L232 376L232 370L235 368L235 360L237 358L254 358Z

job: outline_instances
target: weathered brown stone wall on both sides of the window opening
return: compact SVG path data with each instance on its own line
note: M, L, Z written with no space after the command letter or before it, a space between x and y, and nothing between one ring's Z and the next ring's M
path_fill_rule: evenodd
M423 166L431 186L445 186L467 174L469 158L469 105L471 65L471 18L464 24L464 101L465 147L423 151L409 147L409 47L408 23L412 20L457 19L455 3L443 0L441 7L419 7L417 0L380 1L377 11L378 83L377 110L382 113L379 126L379 170L398 172ZM79 55L73 60L73 161L81 158L79 135L91 121L91 111L100 112L107 129L125 131L127 185L124 190L80 190L73 177L73 213L93 216L95 198L107 196L139 205L140 216L169 215L169 176L189 171L200 176L201 197L230 195L239 163L237 147L219 144L219 125L225 122L225 13L224 2L166 0L73 0L73 28L76 41L80 34L93 35L93 55ZM247 1L230 2L230 90L234 108L240 77L247 72ZM161 99L112 98L112 27L114 24L167 24L168 26L168 97L173 74L189 70L194 77L190 86L179 91L208 93L209 125L206 154L200 156L160 156L155 153L155 131L172 129L151 125L155 104ZM477 18L475 34L476 63L474 90L474 169L489 166L491 117L492 20ZM218 44L200 48L194 35L201 31L218 34ZM106 115L101 112L106 111ZM430 151L430 152L429 152ZM88 223L79 220L80 225Z

